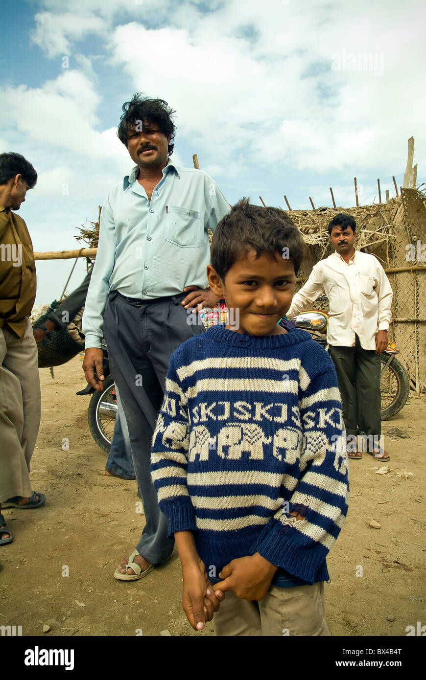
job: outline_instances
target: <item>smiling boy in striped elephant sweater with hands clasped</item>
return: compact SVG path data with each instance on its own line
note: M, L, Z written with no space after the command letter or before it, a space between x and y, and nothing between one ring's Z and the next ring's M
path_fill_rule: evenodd
M329 634L325 557L348 468L333 363L306 331L278 325L303 255L283 211L242 199L208 265L235 323L171 355L151 473L195 630L216 612L216 635Z

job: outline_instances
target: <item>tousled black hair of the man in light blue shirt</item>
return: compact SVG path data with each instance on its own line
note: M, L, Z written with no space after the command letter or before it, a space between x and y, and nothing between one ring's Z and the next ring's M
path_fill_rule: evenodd
M150 97L143 97L142 92L135 92L131 101L125 101L122 105L123 114L118 125L117 137L127 147L127 135L129 130L136 126L137 121L142 122L142 126L148 126L150 123L157 123L159 131L165 137L171 136L170 141L174 139L175 125L171 118L174 113L173 109L169 107L167 101L164 99L150 99ZM173 153L174 144L169 144L168 155Z

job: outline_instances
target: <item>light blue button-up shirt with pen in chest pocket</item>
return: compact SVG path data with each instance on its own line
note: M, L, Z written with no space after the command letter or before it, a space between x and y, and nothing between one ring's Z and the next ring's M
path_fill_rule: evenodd
M108 192L83 315L88 347L101 347L103 310L112 290L135 299L206 288L208 228L214 232L229 204L212 177L177 167L169 158L151 200L133 168Z

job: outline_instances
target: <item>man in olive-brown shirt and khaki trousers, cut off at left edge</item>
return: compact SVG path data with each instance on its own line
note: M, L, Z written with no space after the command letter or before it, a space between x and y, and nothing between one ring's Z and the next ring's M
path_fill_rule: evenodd
M35 300L33 244L12 212L36 182L23 156L0 154L0 511L2 503L29 509L46 500L29 478L41 413L37 345L27 319ZM0 512L0 545L11 540Z

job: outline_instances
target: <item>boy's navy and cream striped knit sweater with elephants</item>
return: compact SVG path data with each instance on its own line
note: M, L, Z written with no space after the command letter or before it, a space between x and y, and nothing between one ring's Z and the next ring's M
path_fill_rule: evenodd
M171 355L152 438L169 535L192 530L210 575L259 552L307 583L348 509L333 363L304 330L252 336L212 326Z

